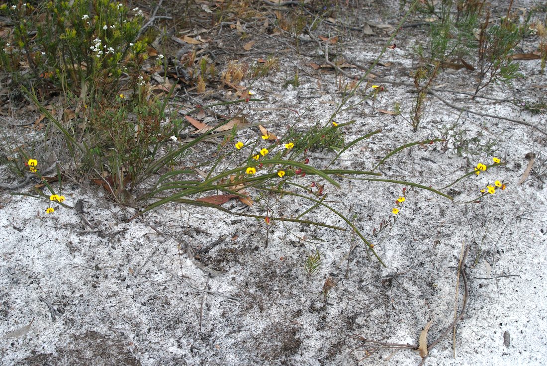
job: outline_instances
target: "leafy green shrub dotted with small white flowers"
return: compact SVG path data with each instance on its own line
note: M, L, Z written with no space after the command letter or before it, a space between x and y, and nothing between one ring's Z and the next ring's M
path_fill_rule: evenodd
M15 24L0 40L0 62L14 82L91 97L114 93L123 72L137 80L146 43L136 40L143 14L108 0L4 4ZM30 70L29 72L25 72ZM38 83L38 85L37 85Z

